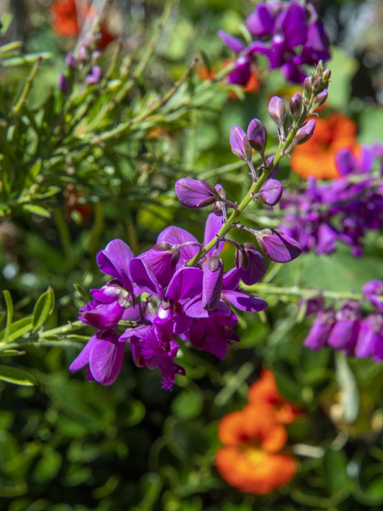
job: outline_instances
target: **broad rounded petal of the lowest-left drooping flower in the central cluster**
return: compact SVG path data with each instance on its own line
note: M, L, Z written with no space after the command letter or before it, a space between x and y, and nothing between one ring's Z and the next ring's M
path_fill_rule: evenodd
M125 344L118 342L118 334L105 332L92 345L89 369L93 378L103 385L110 385L117 378L124 360Z

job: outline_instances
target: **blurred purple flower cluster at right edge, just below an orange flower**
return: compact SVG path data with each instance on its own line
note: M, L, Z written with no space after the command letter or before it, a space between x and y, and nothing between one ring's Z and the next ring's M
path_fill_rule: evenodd
M339 179L317 184L309 178L302 193L283 194L280 228L296 239L303 251L328 254L341 241L352 247L355 257L360 255L366 232L382 225L381 169L372 172L382 152L380 144L362 147L359 157L348 148L338 151Z

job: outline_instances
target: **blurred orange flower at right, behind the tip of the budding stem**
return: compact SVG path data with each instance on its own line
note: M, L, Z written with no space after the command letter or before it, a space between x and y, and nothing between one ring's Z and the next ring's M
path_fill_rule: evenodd
M358 151L356 124L342 113L333 113L327 118L318 119L310 140L294 148L291 168L304 178L337 178L339 172L335 155L343 147Z

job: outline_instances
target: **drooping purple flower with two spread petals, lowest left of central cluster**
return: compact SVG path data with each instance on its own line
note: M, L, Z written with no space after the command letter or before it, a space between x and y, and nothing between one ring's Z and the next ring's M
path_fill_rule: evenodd
M110 385L117 378L124 359L125 343L118 342L115 332L98 332L85 344L83 350L70 364L74 373L87 367L89 381L96 380L103 385Z

